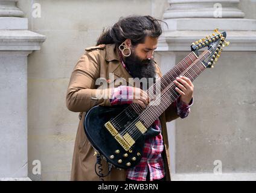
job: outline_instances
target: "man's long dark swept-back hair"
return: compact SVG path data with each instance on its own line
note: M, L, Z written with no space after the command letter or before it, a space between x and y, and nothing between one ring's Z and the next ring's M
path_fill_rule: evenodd
M162 34L159 22L163 21L152 16L123 17L111 28L103 29L96 45L115 43L119 46L124 40L130 39L132 45L136 46L144 43L146 36L159 37Z

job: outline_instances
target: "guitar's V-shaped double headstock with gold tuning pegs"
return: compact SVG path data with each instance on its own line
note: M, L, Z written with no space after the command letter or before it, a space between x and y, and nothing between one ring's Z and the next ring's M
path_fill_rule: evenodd
M219 29L216 28L212 36L206 36L205 39L197 40L191 45L191 51L197 52L199 49L208 47L210 55L203 61L206 68L213 68L213 64L217 62L222 53L222 49L225 46L229 45L229 42L226 42L226 32L219 32Z

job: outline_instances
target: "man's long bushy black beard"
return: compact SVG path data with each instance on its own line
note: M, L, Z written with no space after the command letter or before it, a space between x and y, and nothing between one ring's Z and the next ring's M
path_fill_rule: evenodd
M149 78L154 78L153 82L155 83L155 62L152 60L141 60L137 55L132 53L129 57L125 58L124 63L133 78L147 78L148 82Z

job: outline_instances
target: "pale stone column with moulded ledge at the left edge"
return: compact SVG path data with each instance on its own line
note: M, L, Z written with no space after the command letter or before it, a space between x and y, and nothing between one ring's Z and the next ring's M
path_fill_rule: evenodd
M0 0L0 180L30 180L27 57L46 39L28 31L16 2Z

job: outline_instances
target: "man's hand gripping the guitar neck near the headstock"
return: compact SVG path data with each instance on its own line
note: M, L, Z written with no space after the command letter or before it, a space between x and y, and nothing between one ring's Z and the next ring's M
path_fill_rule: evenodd
M190 78L187 77L177 77L174 83L178 86L175 90L181 95L181 100L189 104L193 97L194 85Z

